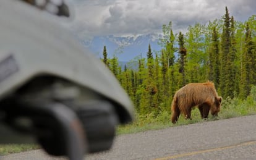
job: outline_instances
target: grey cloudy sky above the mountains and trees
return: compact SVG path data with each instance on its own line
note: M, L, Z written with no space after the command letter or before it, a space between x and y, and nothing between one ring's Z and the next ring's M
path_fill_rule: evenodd
M72 0L73 30L80 38L101 35L161 33L161 26L173 22L174 32L189 25L220 19L225 6L235 20L256 14L255 0Z

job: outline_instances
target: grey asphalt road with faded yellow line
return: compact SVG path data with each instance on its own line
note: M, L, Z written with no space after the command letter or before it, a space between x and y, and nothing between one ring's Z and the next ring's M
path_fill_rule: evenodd
M38 149L0 159L65 158ZM256 159L256 115L119 135L110 151L85 159Z

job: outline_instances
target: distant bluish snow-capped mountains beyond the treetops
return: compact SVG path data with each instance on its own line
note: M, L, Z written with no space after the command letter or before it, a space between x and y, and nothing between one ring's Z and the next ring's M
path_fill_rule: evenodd
M106 46L108 57L116 55L119 61L130 61L135 57L146 57L148 52L148 44L151 46L151 51L160 51L161 46L158 44L161 35L148 34L137 36L95 36L90 41L82 40L92 53L98 57L103 56L103 47Z

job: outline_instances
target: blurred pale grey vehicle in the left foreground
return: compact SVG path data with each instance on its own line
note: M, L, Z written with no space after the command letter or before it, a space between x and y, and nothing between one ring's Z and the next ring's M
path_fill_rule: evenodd
M51 5L0 2L0 144L39 143L54 156L82 159L111 148L133 105L100 59L59 24L69 7Z

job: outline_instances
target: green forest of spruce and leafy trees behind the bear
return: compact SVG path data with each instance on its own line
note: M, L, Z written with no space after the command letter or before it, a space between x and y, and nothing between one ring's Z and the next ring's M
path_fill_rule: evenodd
M215 83L223 99L244 100L256 85L256 15L238 22L228 7L220 19L195 23L186 33L173 33L172 22L163 25L161 51L148 44L147 57L135 57L121 69L116 56L102 61L116 76L140 117L171 113L173 95L187 83ZM134 68L137 66L137 68Z

